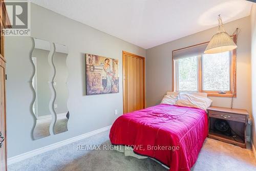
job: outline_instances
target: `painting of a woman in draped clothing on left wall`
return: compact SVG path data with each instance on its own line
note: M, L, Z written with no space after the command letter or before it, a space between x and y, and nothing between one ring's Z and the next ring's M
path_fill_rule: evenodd
M86 95L119 92L118 59L86 54Z

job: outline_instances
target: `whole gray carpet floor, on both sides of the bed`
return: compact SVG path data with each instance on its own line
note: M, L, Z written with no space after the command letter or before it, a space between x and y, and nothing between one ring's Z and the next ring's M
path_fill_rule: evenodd
M161 164L147 158L137 159L109 150L77 151L77 145L110 144L109 131L62 146L44 154L8 166L13 170L47 171L166 171ZM250 149L214 139L206 139L193 171L252 171L256 162Z

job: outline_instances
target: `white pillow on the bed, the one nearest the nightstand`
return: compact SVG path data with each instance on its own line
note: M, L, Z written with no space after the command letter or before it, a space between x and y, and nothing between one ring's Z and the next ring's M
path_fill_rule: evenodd
M207 97L194 94L180 93L176 105L199 108L206 111L212 100Z

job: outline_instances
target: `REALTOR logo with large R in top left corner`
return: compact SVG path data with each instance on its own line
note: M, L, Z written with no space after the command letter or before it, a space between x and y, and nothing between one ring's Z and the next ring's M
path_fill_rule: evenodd
M5 1L10 29L3 29L5 36L30 36L30 2ZM8 21L8 19L5 19Z

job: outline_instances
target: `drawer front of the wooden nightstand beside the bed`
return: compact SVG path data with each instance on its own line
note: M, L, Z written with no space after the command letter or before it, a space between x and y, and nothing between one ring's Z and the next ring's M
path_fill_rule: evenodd
M225 112L219 112L219 111L210 111L210 110L208 112L209 112L209 117L212 117L212 118L219 118L219 119L232 120L232 121L246 123L245 115L225 113Z

